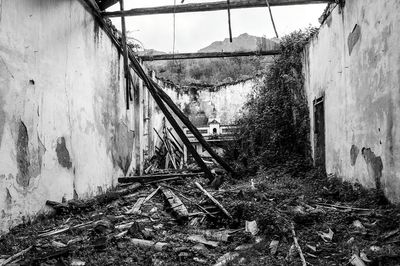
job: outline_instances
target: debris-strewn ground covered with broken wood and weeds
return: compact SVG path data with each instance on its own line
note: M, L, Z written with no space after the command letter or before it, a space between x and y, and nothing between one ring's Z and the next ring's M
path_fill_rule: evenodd
M129 214L158 186L182 200L188 219L178 219L160 191ZM58 209L2 236L0 265L27 248L10 265L302 265L301 255L308 265L400 265L399 221L400 209L380 193L288 163L227 180L219 191L186 178L84 209Z

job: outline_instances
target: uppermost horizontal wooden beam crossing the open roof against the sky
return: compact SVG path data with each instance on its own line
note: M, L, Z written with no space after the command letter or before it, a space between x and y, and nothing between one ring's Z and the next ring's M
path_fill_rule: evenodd
M323 4L333 3L334 0L269 0L270 6L289 6L289 5L305 5L305 4ZM265 0L232 0L230 1L230 9L238 8L254 8L267 7ZM121 17L121 16L143 16L157 14L173 14L188 12L205 12L227 10L227 1L209 2L209 3L190 3L184 5L168 5L159 7L134 8L126 11L103 12L104 16Z

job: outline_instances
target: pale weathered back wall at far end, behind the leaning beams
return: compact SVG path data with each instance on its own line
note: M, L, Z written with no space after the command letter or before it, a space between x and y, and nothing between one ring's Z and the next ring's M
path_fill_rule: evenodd
M214 118L223 125L234 124L236 118L241 114L251 90L259 81L258 78L254 78L215 88L182 89L171 83L163 82L155 78L155 76L154 80L197 127L207 126L207 123L211 122ZM151 107L151 125L160 133L163 119L165 119L164 114L152 98L148 105ZM171 110L170 112L178 124L184 127L180 119ZM166 123L168 128L172 128L168 121ZM179 140L176 132L174 130L172 132L176 139ZM153 140L151 145L149 145L151 150L148 152L148 158L150 158L155 153L154 145L159 146L160 140L153 128L148 128L148 134L151 136L151 140Z

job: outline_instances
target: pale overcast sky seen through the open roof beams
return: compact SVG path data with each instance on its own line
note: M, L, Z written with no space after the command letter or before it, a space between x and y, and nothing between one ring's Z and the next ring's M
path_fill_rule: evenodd
M185 3L210 2L215 0L185 0ZM125 1L125 9L149 6L173 5L173 0ZM176 1L180 5L180 0ZM309 25L319 26L326 4L272 7L278 34L288 34ZM119 10L119 4L108 11ZM120 18L113 18L120 28ZM196 52L214 41L229 37L227 11L176 14L176 52ZM267 8L231 10L232 34L234 37L248 33L255 36L275 37ZM172 52L173 15L151 15L126 18L129 35L140 40L146 49Z

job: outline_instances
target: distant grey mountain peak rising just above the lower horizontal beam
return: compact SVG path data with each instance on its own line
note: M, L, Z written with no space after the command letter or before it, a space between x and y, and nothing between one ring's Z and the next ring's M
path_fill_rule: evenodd
M256 37L243 33L238 37L229 38L223 41L213 42L209 46L200 49L198 52L236 52L236 51L257 51L257 50L272 50L278 48L278 41L276 39L266 39L264 37Z

